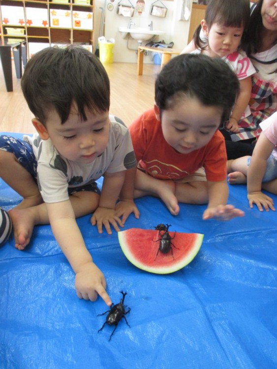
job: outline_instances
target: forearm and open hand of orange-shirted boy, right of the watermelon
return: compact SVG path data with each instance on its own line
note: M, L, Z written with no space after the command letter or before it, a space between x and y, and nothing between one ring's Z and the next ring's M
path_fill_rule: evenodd
M227 181L208 181L209 203L203 213L203 219L216 218L219 220L230 220L236 216L244 216L244 212L235 209L233 205L226 205L228 199Z

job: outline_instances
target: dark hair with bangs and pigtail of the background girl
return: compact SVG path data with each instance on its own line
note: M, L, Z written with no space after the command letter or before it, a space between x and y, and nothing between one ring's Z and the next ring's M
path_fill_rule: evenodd
M205 21L209 30L214 23L224 27L246 28L250 18L249 0L211 0L206 8ZM200 37L201 25L193 35L197 49L207 49L208 40Z

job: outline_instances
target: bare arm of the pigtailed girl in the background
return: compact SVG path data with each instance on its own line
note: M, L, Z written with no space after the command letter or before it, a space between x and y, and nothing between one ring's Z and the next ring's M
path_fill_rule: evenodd
M240 121L241 116L243 115L244 111L246 110L246 106L249 103L251 89L251 76L240 80L240 93L237 97L232 115L228 123L225 123L225 128L228 129L230 132L238 133L240 130L238 122Z

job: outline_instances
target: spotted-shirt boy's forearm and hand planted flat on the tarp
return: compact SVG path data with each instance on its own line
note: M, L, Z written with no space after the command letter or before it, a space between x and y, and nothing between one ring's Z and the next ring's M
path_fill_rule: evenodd
M92 215L92 225L97 224L99 233L102 233L103 225L107 233L112 234L110 223L117 232L120 231L118 224L123 227L123 222L116 214L116 202L119 198L123 186L125 170L116 173L105 173L102 185L102 191L99 200L99 206Z

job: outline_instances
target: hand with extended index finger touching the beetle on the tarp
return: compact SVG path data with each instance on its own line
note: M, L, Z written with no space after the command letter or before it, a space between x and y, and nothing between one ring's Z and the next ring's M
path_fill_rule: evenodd
M95 301L98 294L108 306L112 305L106 292L105 277L92 262L82 265L76 273L75 288L79 299Z

